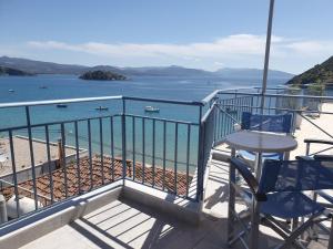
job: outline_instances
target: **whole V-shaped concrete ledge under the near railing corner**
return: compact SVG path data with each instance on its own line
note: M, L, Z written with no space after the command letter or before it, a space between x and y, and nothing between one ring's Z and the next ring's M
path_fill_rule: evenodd
M0 228L0 248L20 248L120 197L148 206L174 219L199 225L200 204L131 180L119 180L37 212L28 214Z

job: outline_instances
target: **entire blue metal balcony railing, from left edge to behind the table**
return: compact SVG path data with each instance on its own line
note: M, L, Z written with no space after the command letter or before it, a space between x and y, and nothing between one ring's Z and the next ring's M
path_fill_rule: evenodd
M297 115L311 123L310 115L333 114L320 110L333 97L293 95L282 87L262 95L259 87L251 87L215 91L201 102L103 96L0 104L3 115L17 118L0 127L11 168L0 175L0 190L14 203L18 218L26 215L20 208L22 196L32 203L30 211L36 211L121 180L202 201L211 148L235 131L243 112L291 112L295 128ZM167 111L161 108L161 115L142 113L147 103ZM68 111L50 112L59 104L68 105ZM110 111L97 114L87 110L97 104ZM52 115L38 116L37 111ZM316 128L331 136L329 131ZM22 152L28 155L24 170L30 170L26 178L19 173ZM41 154L42 165L38 162Z

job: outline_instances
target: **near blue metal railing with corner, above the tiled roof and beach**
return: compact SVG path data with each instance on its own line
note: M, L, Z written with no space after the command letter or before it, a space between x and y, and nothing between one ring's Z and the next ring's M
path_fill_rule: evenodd
M83 112L83 117L75 117L70 110L82 103L85 106L103 103L113 108L105 114ZM198 117L181 120L179 116L138 114L131 103L133 106L143 103L174 105L180 111L188 106ZM63 111L61 121L57 115L49 118L56 121L33 116L36 110L44 106L47 113L50 106L58 110L60 104L61 110L68 110ZM0 151L9 157L7 173L0 175L0 194L14 204L16 215L10 218L27 215L27 207L23 211L20 205L22 198L26 198L24 205L31 204L28 211L36 211L118 180L133 180L200 201L202 187L198 186L203 186L200 183L203 173L198 155L202 151L199 134L204 127L201 125L202 107L201 102L125 96L0 104L0 110L4 114L6 110L9 117L12 117L10 108L21 110L20 120L14 121L18 125L0 127L4 143ZM22 154L28 155L28 160ZM38 162L41 157L43 165ZM29 174L18 178L22 160Z

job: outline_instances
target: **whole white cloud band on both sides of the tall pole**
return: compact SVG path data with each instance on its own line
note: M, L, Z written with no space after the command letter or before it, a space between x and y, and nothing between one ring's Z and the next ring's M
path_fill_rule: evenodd
M192 43L65 43L60 41L30 41L26 49L36 54L54 51L73 52L85 63L111 63L117 65L167 65L215 70L222 66L262 68L265 51L265 35L234 34L209 42ZM41 52L43 51L43 52ZM68 53L69 54L69 53ZM272 37L271 68L287 72L303 70L322 62L333 54L333 40L311 40ZM69 55L65 55L69 56Z

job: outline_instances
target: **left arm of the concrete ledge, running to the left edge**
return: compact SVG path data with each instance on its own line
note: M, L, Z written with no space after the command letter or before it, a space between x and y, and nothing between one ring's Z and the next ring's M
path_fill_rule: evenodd
M0 248L22 247L119 198L121 183L113 183L69 199L38 214L27 216L0 229Z

